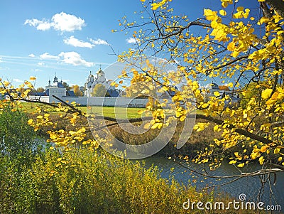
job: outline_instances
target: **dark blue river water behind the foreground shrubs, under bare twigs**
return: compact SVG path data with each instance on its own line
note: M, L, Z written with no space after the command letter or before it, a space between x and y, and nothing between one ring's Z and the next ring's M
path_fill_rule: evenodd
M160 156L152 156L147 159L143 159L145 161L146 167L157 166L161 171L161 176L163 178L169 178L170 175L174 176L175 180L180 183L184 183L185 185L190 184L192 186L196 186L197 189L204 188L206 186L219 185L222 183L227 183L232 180L232 178L226 178L222 180L217 180L217 178L205 178L204 176L200 176L197 173L192 173L187 168L180 166L177 161L173 159L167 159L165 157ZM194 171L200 171L204 173L202 169L204 169L202 164L190 163L190 168ZM258 164L250 164L249 166L245 166L242 168L242 171L256 171L260 166ZM207 170L206 170L207 171ZM217 170L215 171L207 171L208 173L214 176L230 176L235 175L236 173L240 173L239 168L235 166L223 163ZM261 192L261 199L258 201L262 201L266 204L271 205L281 205L282 210L284 209L284 173L277 173L276 175L276 183L273 185L274 176L271 176L271 189L273 191L273 196L270 196L269 185L266 184L264 190ZM223 193L229 193L230 196L239 198L240 194L246 195L246 201L256 202L259 190L261 188L261 180L258 177L246 177L241 178L233 183L228 183L224 186L219 186L214 188L215 193L219 193L220 191ZM272 197L272 198L271 198ZM271 203L270 203L271 198Z

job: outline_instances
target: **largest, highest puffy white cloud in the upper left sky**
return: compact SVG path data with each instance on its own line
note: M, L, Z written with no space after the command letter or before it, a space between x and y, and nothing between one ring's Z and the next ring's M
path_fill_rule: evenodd
M27 19L24 24L33 26L39 31L47 31L50 28L54 28L56 31L61 32L82 30L82 27L86 26L86 24L84 23L84 19L71 14L65 14L64 12L61 12L60 14L55 14L51 18L51 21L45 18L43 18L42 20L33 18Z

